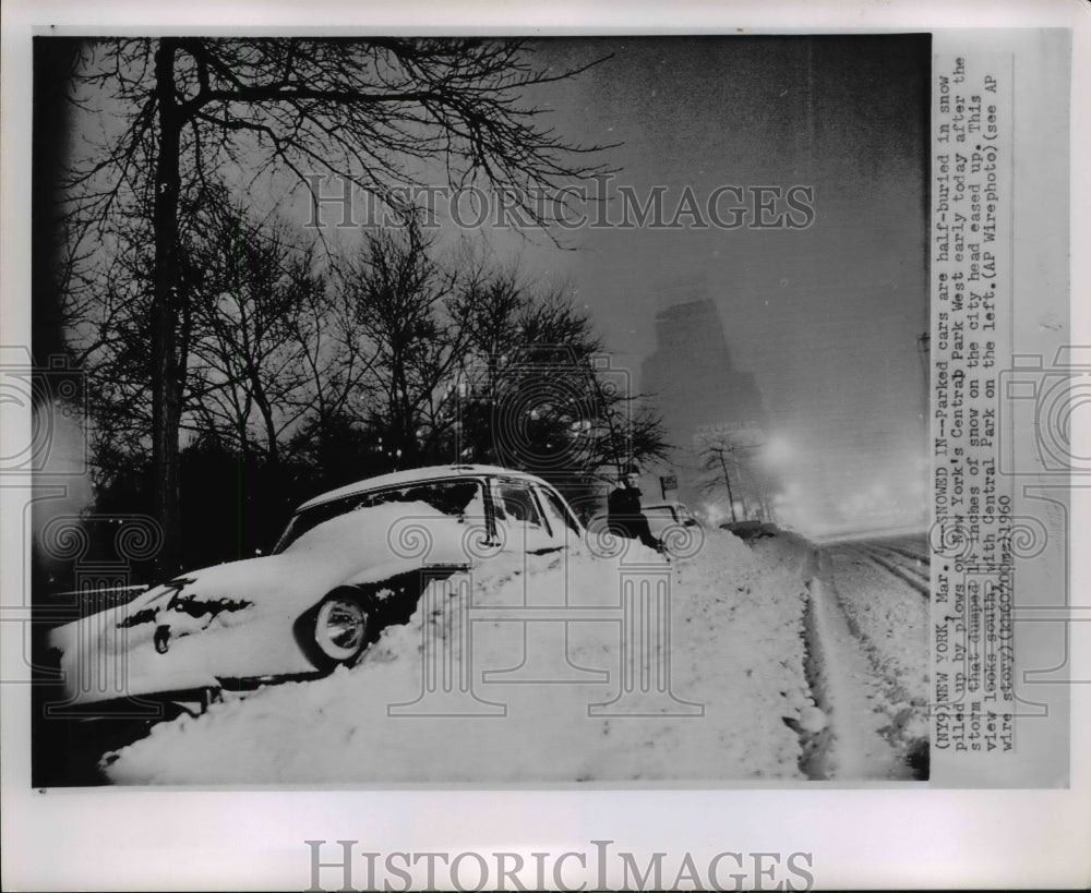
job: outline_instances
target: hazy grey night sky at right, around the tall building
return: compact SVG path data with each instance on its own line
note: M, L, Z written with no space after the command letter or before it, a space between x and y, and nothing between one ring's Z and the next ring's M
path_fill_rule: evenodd
M634 374L659 309L715 300L735 365L793 446L794 480L846 508L860 491L923 504L927 38L554 40L537 52L556 65L612 53L550 99L565 136L621 144L607 156L615 185L666 185L669 208L686 185L702 200L723 184L810 185L815 219L583 228L566 237L577 251L523 249L528 261L571 279Z

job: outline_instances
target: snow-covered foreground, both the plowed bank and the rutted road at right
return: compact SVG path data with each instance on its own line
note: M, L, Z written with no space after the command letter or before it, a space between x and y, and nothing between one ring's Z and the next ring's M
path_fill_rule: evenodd
M927 602L873 545L710 530L671 565L494 560L427 592L356 667L228 696L103 768L119 784L919 777Z

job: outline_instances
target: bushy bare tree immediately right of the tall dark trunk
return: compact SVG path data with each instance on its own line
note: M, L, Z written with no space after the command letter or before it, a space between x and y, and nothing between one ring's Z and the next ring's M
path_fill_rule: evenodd
M188 252L200 277L181 426L276 464L287 435L326 397L325 364L345 362L322 343L336 325L328 290L313 244L283 220L255 220L227 201L202 218L203 244Z

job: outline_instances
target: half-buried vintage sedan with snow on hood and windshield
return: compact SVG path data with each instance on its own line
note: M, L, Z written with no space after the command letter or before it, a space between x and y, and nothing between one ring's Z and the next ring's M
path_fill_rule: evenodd
M216 689L352 664L424 588L584 530L540 478L489 466L397 472L303 504L273 554L182 574L53 630L71 703Z

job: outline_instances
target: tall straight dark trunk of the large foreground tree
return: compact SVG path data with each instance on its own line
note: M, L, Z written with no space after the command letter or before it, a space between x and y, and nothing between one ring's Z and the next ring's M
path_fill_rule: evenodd
M152 302L152 490L156 518L163 527L163 550L156 571L179 571L178 431L182 381L178 363L178 200L181 116L175 97L177 41L163 38L155 53L155 95L159 147L155 170L154 295Z

